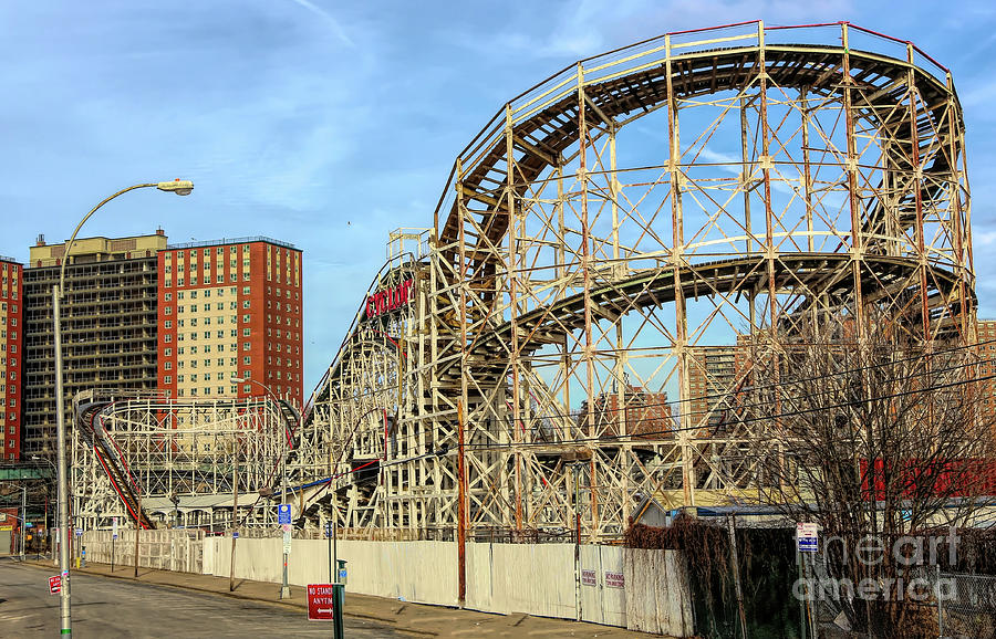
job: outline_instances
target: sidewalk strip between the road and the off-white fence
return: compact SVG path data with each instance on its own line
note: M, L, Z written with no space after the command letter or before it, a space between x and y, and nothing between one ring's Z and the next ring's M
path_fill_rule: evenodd
M58 568L51 559L29 559L28 565L38 566L51 574L58 574ZM114 579L134 579L134 566L115 566L111 573L107 564L87 563L85 568L73 569L73 573L85 573ZM288 606L301 610L307 615L304 588L291 586L291 598L278 600L280 590L278 584L267 582L250 582L236 579L234 593L228 591L228 578L212 575L195 575L193 573L173 573L169 570L154 570L151 568L138 569L138 580L158 586L185 588L187 590L200 590L237 599L252 599L267 601L274 606ZM346 617L371 619L382 624L390 624L396 631L411 633L413 637L600 637L605 639L642 638L651 635L635 632L624 628L611 626L598 626L564 619L549 619L546 617L531 617L525 614L491 615L475 610L458 610L443 606L427 606L411 604L370 595L357 595L349 591L345 594Z

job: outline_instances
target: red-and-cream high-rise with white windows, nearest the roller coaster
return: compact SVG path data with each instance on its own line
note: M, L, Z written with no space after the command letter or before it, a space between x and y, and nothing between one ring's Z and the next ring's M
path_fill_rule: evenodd
M269 238L162 251L158 386L167 397L264 392L252 379L301 405L301 268L299 249Z

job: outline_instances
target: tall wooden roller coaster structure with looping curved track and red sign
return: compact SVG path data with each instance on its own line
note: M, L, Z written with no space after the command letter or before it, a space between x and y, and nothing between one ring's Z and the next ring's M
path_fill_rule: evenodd
M666 139L642 146L663 157L637 148L619 166L616 134L655 112L666 121L646 135ZM708 146L717 132L740 157ZM471 528L572 528L580 509L594 538L619 533L637 492L681 486L695 505L695 491L744 489L753 431L697 439L704 421L683 410L682 434L633 450L599 441L629 417L592 419L592 407L701 399L689 378L714 321L737 333L724 348L809 313L875 312L923 339L969 339L965 163L947 70L849 23L734 24L579 61L458 155L432 250L404 266L417 303L375 317L361 304L309 402L314 476L302 480L378 460L376 476L322 497L343 525L455 526L457 470L434 451L454 450L461 428ZM696 302L706 311L691 313ZM728 384L739 392L744 376ZM532 440L543 420L561 439ZM537 443L557 446L540 455ZM579 459L585 494L566 470Z

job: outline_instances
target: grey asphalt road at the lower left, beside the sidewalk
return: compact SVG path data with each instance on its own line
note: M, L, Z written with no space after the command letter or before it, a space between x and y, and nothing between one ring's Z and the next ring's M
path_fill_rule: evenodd
M0 561L0 637L58 637L59 596L51 570ZM329 621L279 604L74 573L73 636L90 637L331 637ZM347 637L396 637L390 626L345 620Z

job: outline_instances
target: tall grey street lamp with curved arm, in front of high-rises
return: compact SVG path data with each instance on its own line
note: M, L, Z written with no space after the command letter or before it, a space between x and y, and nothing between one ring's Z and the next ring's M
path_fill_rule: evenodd
M122 189L113 196L105 198L97 206L92 208L89 213L76 224L73 234L70 237L65 245L65 252L62 256L62 269L59 271L59 283L52 286L52 324L54 328L55 342L55 437L58 438L58 465L55 474L59 483L59 572L62 582L59 589L60 610L62 615L62 635L72 635L72 614L70 608L70 589L69 589L69 486L66 483L65 472L65 415L63 407L63 383L62 383L62 327L59 320L59 304L62 301L62 293L65 290L65 266L69 264L70 253L73 250L73 242L76 240L76 233L86 223L86 220L96 212L97 209L116 198L122 193L133 191L135 189L144 189L155 187L160 191L174 192L178 196L188 196L194 190L194 182L189 180L174 180L172 182L146 182L134 185L126 189ZM135 524L135 537L138 537L138 527L142 525L142 513L137 514L139 521ZM137 559L137 556L136 556ZM137 563L137 562L136 562Z

